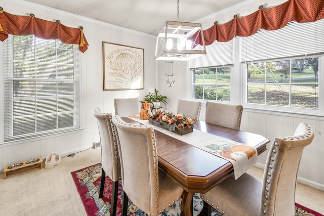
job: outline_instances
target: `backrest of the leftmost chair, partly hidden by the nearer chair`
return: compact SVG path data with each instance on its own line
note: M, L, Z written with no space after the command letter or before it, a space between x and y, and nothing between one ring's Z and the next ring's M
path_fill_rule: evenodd
M114 125L111 121L111 113L102 113L98 107L93 110L97 118L100 142L101 142L101 164L106 175L114 182L121 178L120 160Z

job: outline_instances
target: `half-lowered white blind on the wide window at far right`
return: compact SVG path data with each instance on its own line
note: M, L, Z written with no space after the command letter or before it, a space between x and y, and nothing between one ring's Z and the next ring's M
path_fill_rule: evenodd
M252 36L241 37L241 62L320 55L324 53L323 38L324 19L293 21L274 31L260 29Z

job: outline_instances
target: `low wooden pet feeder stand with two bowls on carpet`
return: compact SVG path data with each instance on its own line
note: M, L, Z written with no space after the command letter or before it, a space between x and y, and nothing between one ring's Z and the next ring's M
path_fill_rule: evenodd
M43 168L43 157L37 157L31 160L25 160L19 163L9 164L5 166L5 179L7 178L7 175L15 174L17 172L32 169L35 167Z

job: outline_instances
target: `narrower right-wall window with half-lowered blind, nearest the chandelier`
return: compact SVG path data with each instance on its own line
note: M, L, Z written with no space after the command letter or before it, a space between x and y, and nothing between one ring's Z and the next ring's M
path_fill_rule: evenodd
M206 46L206 51L205 56L189 61L189 68L193 71L192 98L230 101L233 40L215 41Z

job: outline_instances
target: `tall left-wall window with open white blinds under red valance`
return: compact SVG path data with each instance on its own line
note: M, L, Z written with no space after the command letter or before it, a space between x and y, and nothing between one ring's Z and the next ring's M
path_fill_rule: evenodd
M78 46L10 35L3 47L3 141L79 128Z

